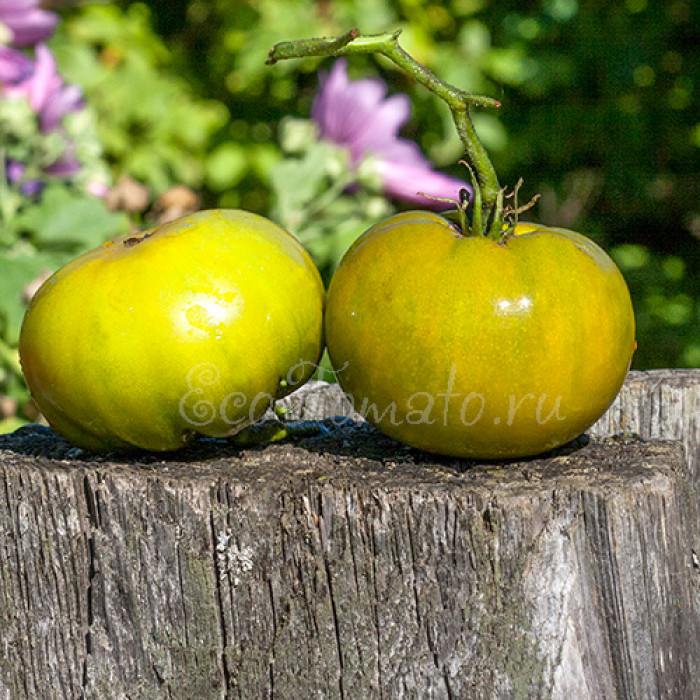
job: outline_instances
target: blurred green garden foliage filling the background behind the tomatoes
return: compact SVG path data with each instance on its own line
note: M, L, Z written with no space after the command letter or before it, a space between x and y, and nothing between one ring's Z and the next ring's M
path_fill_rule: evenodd
M401 28L404 48L443 79L502 102L498 111L478 111L475 123L501 183L523 177L523 200L542 195L529 218L575 228L611 251L637 314L633 366L700 366L698 3L53 4L62 22L50 45L66 80L84 88L113 179L128 174L154 194L185 184L204 206L276 218L300 236L326 279L355 236L400 205L371 183L342 192L343 154L295 141L309 128L317 71L330 61L267 66L265 58L286 39ZM402 135L437 167L465 177L444 105L383 59L354 58L349 70L408 93L413 116ZM7 370L16 361L17 290L115 224L126 226L59 190L46 192L35 220L0 251L0 294L12 297L1 319L0 394L20 392Z

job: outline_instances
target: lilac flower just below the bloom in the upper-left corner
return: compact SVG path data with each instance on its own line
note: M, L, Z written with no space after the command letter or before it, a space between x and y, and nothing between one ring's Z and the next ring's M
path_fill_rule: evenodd
M4 93L7 97L26 98L39 115L39 124L44 132L52 131L68 112L77 111L83 106L80 88L63 82L56 70L56 59L45 44L36 47L32 73L18 83L6 84Z

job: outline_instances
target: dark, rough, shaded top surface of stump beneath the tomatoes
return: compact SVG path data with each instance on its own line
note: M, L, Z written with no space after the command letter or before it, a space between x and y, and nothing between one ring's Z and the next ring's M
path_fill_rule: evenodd
M677 469L682 461L682 447L673 441L582 436L536 458L477 462L415 450L367 423L351 420L324 421L318 435L266 446L241 448L226 439L202 438L178 452L126 456L86 453L41 426L0 436L0 463L5 469L47 473L76 469L169 481L224 479L280 492L297 488L300 482L332 482L337 487L364 483L382 489L462 485L494 496L564 484L618 489L626 482Z

